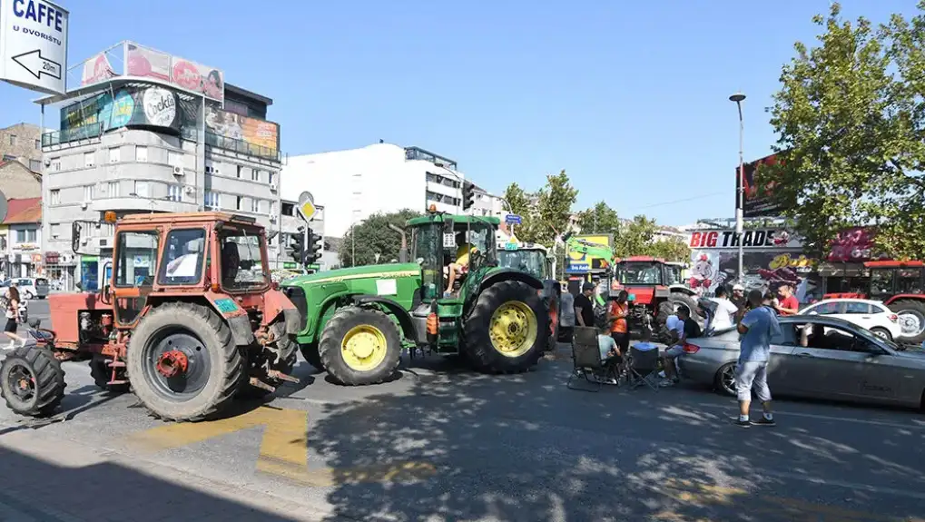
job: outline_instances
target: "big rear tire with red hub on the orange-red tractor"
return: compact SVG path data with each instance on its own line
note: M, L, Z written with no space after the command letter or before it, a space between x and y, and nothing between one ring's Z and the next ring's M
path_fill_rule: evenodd
M192 354L189 370L176 384L165 384L157 373L155 355L162 342L188 336L173 349ZM204 356L202 354L205 354ZM199 355L196 355L199 354ZM128 374L132 391L152 415L179 421L216 416L228 406L245 377L245 359L228 324L211 309L190 303L169 303L142 317L129 340ZM195 380L194 380L195 379ZM200 389L179 390L193 383Z

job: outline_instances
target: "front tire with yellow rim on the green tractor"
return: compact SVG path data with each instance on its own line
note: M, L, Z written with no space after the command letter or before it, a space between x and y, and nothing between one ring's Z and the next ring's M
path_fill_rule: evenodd
M342 345L350 341L348 337L358 334L370 336L366 339L373 342L385 343L385 346L377 344L374 353L368 355L371 360L367 364L373 366L352 367L344 358ZM384 353L380 352L380 349ZM399 367L401 335L395 322L383 312L360 306L345 306L327 321L321 333L321 342L318 343L318 354L327 374L339 384L346 386L378 384L391 378L396 368ZM362 357L367 357L367 355L362 355ZM362 360L358 362L362 363Z

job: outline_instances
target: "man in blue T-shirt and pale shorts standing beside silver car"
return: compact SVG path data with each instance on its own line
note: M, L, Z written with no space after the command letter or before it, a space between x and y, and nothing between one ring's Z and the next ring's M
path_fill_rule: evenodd
M768 387L768 360L771 357L771 337L781 333L777 315L769 306L762 305L761 291L748 292L751 310L739 322L739 333L744 334L739 348L739 360L735 367L735 394L739 400L739 419L736 425L749 428L753 424L773 426L771 415L771 389ZM751 407L751 391L754 388L764 416L757 421L748 418Z

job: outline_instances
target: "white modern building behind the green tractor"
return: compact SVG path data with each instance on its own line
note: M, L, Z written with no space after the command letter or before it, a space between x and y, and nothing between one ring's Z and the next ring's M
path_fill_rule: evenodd
M410 208L462 213L462 182L456 162L419 147L376 143L358 149L290 156L282 190L309 192L326 207L326 233L343 237L372 214ZM475 208L495 215L496 203L485 191ZM480 204L479 201L482 203ZM491 214L488 214L491 213Z

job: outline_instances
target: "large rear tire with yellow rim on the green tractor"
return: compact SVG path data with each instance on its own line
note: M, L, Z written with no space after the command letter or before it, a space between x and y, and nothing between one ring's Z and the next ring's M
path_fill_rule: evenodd
M523 342L513 354L504 354L491 338L491 323L496 312L511 313L524 321L509 327L514 328L512 334L518 337L524 331ZM548 345L549 313L536 289L530 285L500 281L478 296L462 330L462 348L476 369L489 373L520 373L535 367Z

